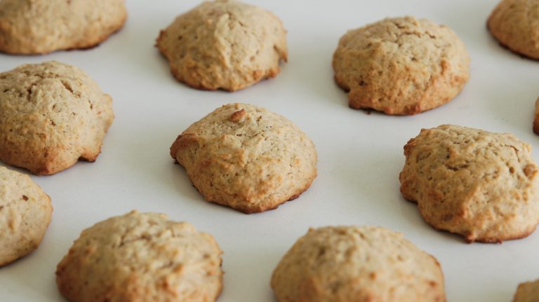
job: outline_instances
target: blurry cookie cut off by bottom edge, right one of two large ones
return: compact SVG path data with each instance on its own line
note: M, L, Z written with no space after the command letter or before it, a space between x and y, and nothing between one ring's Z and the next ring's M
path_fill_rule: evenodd
M444 275L433 256L385 228L310 229L275 268L279 302L443 302Z

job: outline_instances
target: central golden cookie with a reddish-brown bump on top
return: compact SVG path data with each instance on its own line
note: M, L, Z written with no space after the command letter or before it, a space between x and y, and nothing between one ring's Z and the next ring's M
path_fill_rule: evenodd
M192 124L171 146L212 203L246 213L297 198L317 176L317 151L291 121L250 104L227 104Z

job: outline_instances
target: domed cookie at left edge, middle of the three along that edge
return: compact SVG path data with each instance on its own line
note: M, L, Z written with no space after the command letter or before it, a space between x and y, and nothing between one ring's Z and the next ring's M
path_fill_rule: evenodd
M0 160L55 174L95 161L114 119L112 99L84 71L60 62L0 74Z

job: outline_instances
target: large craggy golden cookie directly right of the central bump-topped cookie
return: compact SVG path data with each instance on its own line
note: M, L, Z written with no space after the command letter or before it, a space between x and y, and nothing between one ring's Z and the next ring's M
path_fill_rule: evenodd
M468 242L524 238L539 223L531 146L508 133L441 125L404 146L404 198L434 228Z

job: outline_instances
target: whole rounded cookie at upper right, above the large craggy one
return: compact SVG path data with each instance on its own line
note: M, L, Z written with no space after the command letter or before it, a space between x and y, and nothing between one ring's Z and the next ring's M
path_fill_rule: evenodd
M392 115L427 111L453 99L470 78L470 57L445 25L390 18L354 29L333 54L335 82L353 109Z

